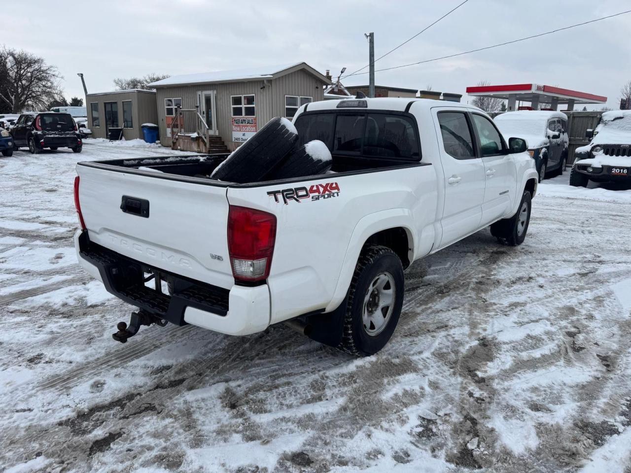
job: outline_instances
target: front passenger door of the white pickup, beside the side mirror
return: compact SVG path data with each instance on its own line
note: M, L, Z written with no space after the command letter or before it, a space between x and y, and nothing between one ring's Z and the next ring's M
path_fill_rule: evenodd
M509 216L516 198L517 169L507 144L492 120L475 112L471 117L487 180L480 225L486 226Z

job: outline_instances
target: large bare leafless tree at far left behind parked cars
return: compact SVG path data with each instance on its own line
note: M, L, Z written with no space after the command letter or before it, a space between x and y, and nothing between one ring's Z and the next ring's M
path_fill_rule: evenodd
M13 113L24 108L37 110L59 98L61 76L57 67L46 64L24 50L0 49L0 103Z

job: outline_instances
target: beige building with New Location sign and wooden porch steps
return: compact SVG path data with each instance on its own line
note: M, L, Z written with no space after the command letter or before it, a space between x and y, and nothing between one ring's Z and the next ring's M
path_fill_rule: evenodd
M172 76L156 89L160 141L191 151L233 150L273 117L291 119L331 82L305 62Z

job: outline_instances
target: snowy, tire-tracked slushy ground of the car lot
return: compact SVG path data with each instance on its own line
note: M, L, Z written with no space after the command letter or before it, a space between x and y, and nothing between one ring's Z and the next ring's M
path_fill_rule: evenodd
M545 181L521 247L483 230L415 264L370 358L285 326L117 344L131 307L76 265L74 163L172 153L0 159L0 469L630 471L631 190Z

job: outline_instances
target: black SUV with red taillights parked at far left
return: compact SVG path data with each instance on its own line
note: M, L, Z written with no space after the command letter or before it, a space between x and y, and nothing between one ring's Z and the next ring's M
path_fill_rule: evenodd
M22 114L11 129L11 136L16 150L28 146L28 151L33 155L43 148L53 151L57 148L70 148L75 153L81 153L83 148L83 141L70 114Z

